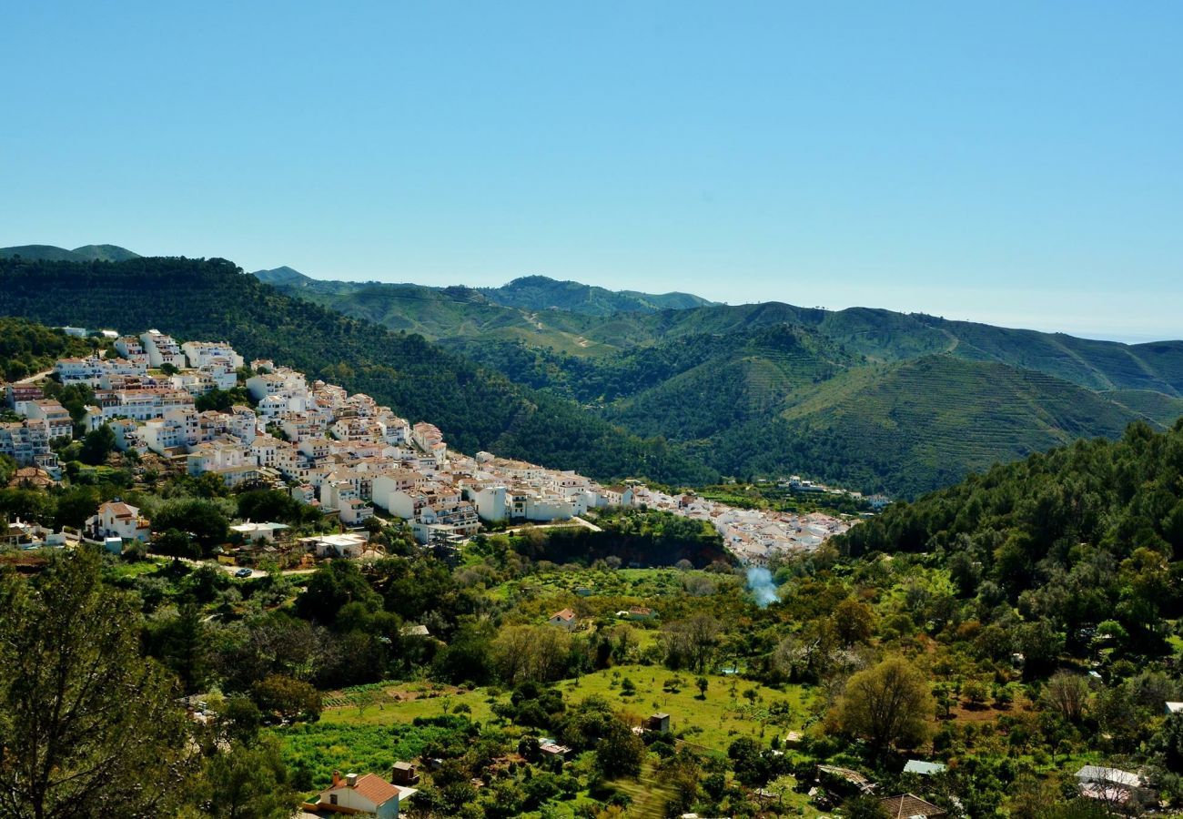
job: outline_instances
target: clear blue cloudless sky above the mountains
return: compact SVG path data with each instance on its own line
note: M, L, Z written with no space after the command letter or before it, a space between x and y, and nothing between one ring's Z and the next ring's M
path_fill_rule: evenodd
M0 245L1183 337L1183 4L17 2Z

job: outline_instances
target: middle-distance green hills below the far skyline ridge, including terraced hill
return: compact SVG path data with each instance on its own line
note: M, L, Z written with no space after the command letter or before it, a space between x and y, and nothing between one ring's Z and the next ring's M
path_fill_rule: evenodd
M1162 428L1183 401L1098 393L955 355L877 365L789 325L673 338L600 359L522 344L461 348L642 436L685 441L724 475L797 472L912 496L1077 437Z

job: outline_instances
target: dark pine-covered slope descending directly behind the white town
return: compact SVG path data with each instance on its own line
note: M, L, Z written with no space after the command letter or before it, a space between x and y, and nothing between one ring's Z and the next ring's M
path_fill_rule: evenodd
M368 393L412 421L431 420L470 452L487 449L597 477L715 477L675 446L642 440L569 401L515 386L421 336L284 296L225 259L4 259L0 315L225 338L244 356L283 361Z

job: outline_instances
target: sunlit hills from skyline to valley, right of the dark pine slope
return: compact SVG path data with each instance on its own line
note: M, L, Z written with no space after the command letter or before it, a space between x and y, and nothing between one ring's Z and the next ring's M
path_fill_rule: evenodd
M1183 415L1177 341L1123 344L777 302L603 315L530 301L549 291L541 277L477 290L279 270L257 275L681 444L723 475L799 472L914 496L995 462Z

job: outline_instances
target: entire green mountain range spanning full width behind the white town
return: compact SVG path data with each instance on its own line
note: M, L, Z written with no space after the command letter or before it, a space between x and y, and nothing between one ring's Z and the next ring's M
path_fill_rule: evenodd
M291 267L252 277L222 260L129 251L134 264L12 259L20 250L0 251L9 257L0 314L132 329L173 321L177 335L226 337L441 421L461 447L602 478L793 472L912 497L996 462L1183 415L1178 341L1121 344L868 308L732 307L539 276L427 286ZM190 265L200 286L160 275L174 265ZM34 276L37 294L21 294L17 280ZM419 389L412 372L425 379ZM459 389L441 387L450 379Z

